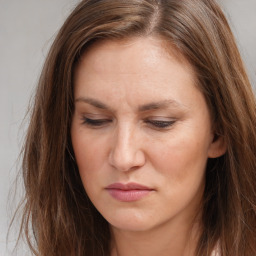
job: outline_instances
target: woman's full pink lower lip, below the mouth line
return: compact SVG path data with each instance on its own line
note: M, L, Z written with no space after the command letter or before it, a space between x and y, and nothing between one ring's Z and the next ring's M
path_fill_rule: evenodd
M108 193L115 199L122 202L133 202L142 199L147 196L152 190L122 190L122 189L107 189Z

